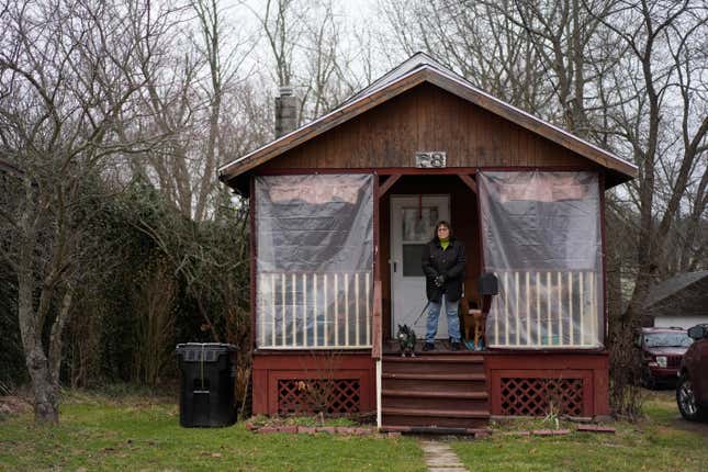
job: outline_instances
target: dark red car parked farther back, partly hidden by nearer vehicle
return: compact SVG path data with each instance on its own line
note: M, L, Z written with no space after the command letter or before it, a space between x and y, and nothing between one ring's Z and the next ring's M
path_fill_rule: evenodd
M683 328L641 328L634 346L642 366L642 384L648 389L674 386L681 359L692 342Z

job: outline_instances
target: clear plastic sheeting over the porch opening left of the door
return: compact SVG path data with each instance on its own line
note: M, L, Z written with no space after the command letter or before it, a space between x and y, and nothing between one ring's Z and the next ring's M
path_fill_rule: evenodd
M371 346L371 175L256 178L257 345Z

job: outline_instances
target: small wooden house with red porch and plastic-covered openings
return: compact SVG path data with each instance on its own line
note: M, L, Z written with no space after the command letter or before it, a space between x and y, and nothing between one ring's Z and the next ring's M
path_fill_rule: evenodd
M385 430L607 415L603 195L636 173L423 54L224 165L251 211L254 413L375 413ZM450 351L441 316L437 349L403 358L439 220L467 247L465 297L498 280L487 347Z

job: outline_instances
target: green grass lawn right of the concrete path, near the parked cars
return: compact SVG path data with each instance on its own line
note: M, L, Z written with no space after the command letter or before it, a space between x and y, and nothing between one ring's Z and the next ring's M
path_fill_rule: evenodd
M574 432L563 437L515 437L454 441L452 449L470 471L708 471L708 425L681 418L673 391L650 393L647 419L608 426L615 435ZM505 425L495 431L520 429ZM563 425L566 426L566 425ZM536 422L524 429L549 429ZM573 425L570 426L573 428Z

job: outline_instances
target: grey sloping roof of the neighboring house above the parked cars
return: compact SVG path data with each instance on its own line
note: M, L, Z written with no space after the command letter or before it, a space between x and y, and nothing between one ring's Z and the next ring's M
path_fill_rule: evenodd
M694 286L698 282L708 285L708 270L698 272L678 273L652 286L650 295L644 303L645 310L661 310L668 305L696 304L696 297L708 300L708 291L705 286ZM699 284L700 285L700 284ZM693 293L696 292L696 293ZM697 303L699 310L705 311L705 305ZM683 314L683 313L677 313Z

